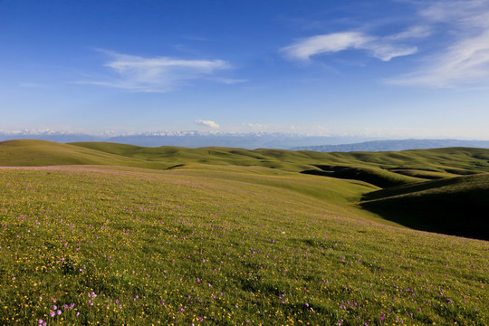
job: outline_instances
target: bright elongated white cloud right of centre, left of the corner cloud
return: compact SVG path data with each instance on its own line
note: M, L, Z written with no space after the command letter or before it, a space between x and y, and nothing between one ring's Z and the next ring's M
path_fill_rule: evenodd
M416 31L415 31L416 32ZM413 32L398 34L398 39L413 37ZM417 33L419 34L419 33ZM281 49L291 59L307 61L314 55L337 53L344 50L364 50L369 55L384 62L398 56L417 53L416 46L406 46L393 42L388 37L376 37L361 32L341 32L315 35Z

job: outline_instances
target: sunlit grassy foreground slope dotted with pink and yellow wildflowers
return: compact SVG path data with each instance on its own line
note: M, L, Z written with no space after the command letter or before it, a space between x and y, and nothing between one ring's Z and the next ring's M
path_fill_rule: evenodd
M360 181L193 163L0 168L0 189L2 325L489 320L489 243L361 218Z

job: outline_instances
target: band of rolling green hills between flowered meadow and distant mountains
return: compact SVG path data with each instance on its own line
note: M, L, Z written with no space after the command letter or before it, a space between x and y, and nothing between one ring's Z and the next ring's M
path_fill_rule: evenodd
M427 179L489 172L489 149L320 153L281 149L144 148L103 142L59 144L32 139L0 142L3 166L95 164L164 169L191 163L259 166L292 172L322 171L323 167L380 168L398 174L399 178Z

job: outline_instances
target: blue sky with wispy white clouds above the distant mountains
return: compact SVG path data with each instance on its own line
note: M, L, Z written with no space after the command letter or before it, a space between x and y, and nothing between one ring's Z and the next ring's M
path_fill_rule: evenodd
M0 0L0 117L489 139L489 0Z

